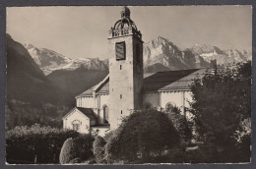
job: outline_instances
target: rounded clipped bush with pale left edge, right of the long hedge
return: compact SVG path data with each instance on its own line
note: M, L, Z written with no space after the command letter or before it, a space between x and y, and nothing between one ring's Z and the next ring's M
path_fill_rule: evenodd
M61 164L76 163L88 160L94 156L94 139L90 135L84 135L75 139L68 139L63 143L60 151L59 162Z

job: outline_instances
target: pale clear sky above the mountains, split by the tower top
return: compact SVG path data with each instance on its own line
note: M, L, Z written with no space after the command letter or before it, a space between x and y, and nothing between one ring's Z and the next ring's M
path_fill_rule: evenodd
M130 7L144 42L158 36L181 49L209 44L222 49L251 49L251 6ZM108 58L108 30L120 6L9 7L6 31L14 40L54 50L70 58Z

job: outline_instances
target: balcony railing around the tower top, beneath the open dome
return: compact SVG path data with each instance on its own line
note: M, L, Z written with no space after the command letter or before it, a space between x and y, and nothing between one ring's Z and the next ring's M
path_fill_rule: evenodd
M134 34L134 35L138 36L140 39L142 38L141 32L136 30L133 27L110 29L108 38L120 37L120 36L131 35L131 34Z

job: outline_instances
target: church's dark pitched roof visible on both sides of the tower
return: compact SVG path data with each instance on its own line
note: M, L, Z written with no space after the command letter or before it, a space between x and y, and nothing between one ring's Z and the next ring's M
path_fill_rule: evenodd
M143 91L190 89L193 79L201 77L206 71L207 69L190 69L144 74ZM102 82L77 97L93 96L94 91L99 94L109 94L109 75Z

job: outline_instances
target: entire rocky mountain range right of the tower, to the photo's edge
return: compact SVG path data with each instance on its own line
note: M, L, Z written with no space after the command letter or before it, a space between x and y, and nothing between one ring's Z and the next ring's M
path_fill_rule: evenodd
M217 59L219 65L227 65L251 60L251 57L251 51L224 50L207 44L195 44L191 48L181 50L160 36L144 44L146 73L209 67L211 60L214 59Z

